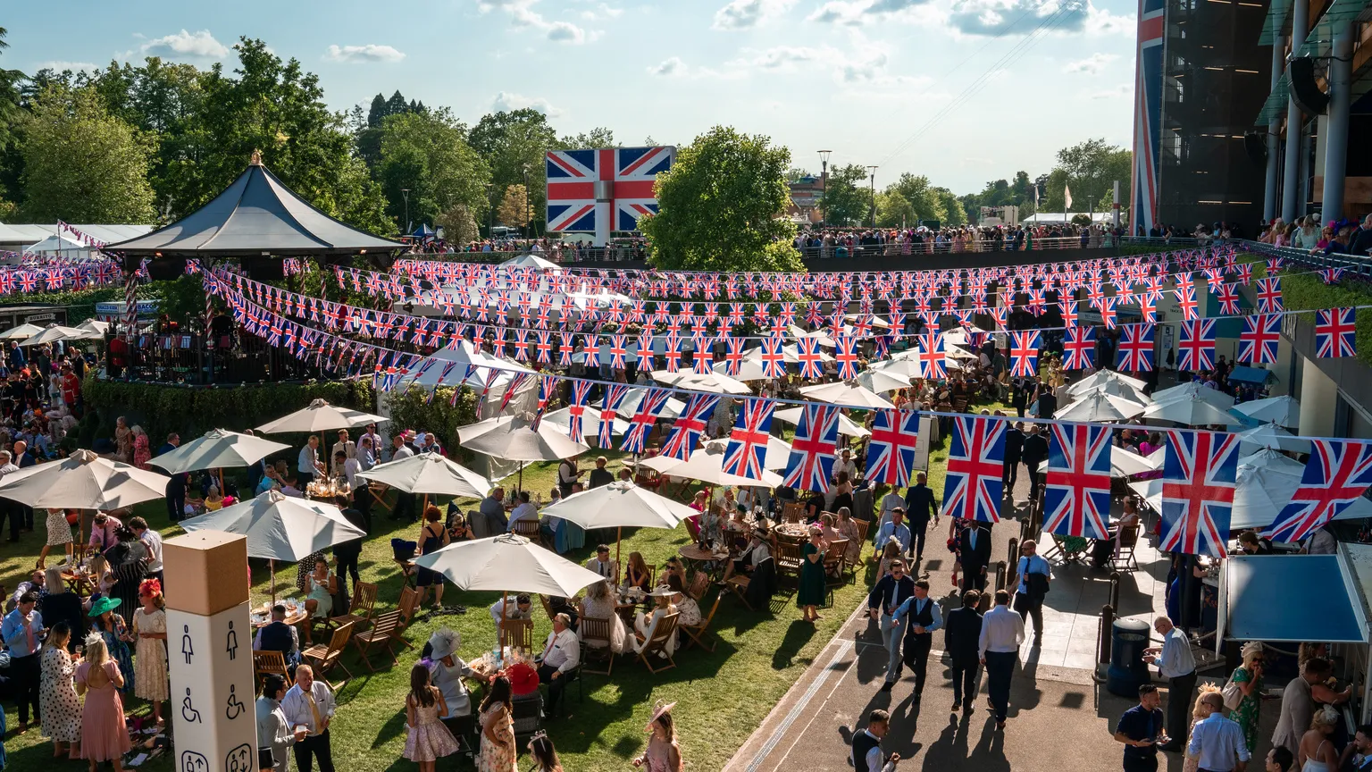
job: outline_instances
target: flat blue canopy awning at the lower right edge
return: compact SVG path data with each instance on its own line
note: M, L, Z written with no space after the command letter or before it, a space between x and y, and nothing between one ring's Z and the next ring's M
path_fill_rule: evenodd
M1353 574L1343 555L1232 556L1220 589L1221 637L1368 643L1367 609ZM1291 588L1303 588L1298 602L1291 602Z

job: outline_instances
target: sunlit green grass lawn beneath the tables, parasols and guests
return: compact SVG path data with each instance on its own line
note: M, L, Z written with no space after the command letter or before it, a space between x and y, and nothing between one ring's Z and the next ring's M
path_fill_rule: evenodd
M616 453L606 453L617 457ZM936 448L930 453L930 485L941 497L943 470L947 451ZM584 466L584 464L583 464ZM613 464L612 464L613 466ZM545 497L553 488L554 464L538 464L524 471L524 482L530 490L542 490ZM509 479L508 482L513 482ZM882 490L877 492L879 500ZM687 492L686 496L690 493ZM468 508L464 501L464 511ZM137 514L172 537L181 533L170 525L165 504L151 501L137 507ZM14 588L25 578L37 559L43 544L43 518L37 518L37 532L23 536L19 544L0 543L0 581ZM401 577L391 559L391 537L403 536L414 540L418 525L397 523L387 519L386 511L373 510L375 533L366 541L362 552L362 580L377 582L380 595L377 609L394 609L399 600ZM639 551L649 563L661 566L676 554L678 547L687 544L686 530L639 530L624 538L624 555ZM568 558L584 562L594 549L587 543L583 549ZM258 563L258 562L254 562ZM788 688L800 677L823 646L834 636L848 613L866 595L864 573L859 570L859 584L848 585L834 593L834 606L822 611L825 618L818 625L799 621L789 591L774 599L774 614L748 611L733 598L726 598L715 615L712 625L719 637L713 654L700 648L679 651L676 668L661 674L650 674L637 659L620 658L613 674L583 679L583 701L578 701L578 685L573 683L564 699L568 701L568 717L547 724L549 736L563 756L568 771L597 771L627 768L628 760L642 751L646 740L643 725L652 705L657 699L676 701L675 710L678 734L687 764L696 769L719 769L744 740L761 723L771 707ZM268 595L268 569L265 562L254 565L254 602ZM277 569L279 589L292 588L295 566ZM354 679L339 694L339 712L333 721L333 757L340 768L348 772L372 772L380 769L413 769L416 765L402 758L405 746L403 702L409 688L409 669L418 658L429 633L447 625L462 633L461 655L473 659L482 651L494 647L495 631L486 611L495 602L497 593L460 592L449 587L443 600L447 604L468 607L464 615L417 617L407 632L407 639L416 650L399 652L401 663L369 674L366 668L348 654L344 662ZM709 611L712 595L701 603L702 611ZM542 640L552 626L546 615L535 606L535 637ZM683 637L685 640L685 637ZM338 673L338 672L336 672ZM18 717L12 705L5 705L7 721L12 729ZM130 699L129 713L145 713L147 705ZM41 738L37 729L26 735L10 736L5 742L10 769L38 772L51 769L52 746ZM523 749L520 749L523 753ZM172 762L162 757L147 765L156 772L170 769ZM84 762L59 761L60 768L80 769ZM524 762L521 761L521 765ZM456 761L440 762L443 768L468 768Z

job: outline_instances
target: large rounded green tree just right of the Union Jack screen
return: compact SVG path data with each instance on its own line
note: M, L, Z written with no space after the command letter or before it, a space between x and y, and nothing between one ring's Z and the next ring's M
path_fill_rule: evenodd
M804 271L785 217L790 151L715 126L657 176L659 212L638 221L649 261L687 271Z

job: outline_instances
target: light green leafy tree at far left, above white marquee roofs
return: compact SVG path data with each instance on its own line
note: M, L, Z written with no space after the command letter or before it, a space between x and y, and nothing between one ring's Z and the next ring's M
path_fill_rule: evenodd
M23 214L37 223L151 223L155 140L89 88L52 88L25 126Z

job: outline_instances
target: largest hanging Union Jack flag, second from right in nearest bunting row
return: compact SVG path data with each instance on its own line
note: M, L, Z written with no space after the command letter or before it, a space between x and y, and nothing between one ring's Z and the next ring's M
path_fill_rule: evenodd
M1158 549L1224 558L1238 470L1236 434L1168 431Z

